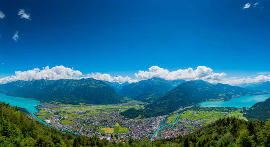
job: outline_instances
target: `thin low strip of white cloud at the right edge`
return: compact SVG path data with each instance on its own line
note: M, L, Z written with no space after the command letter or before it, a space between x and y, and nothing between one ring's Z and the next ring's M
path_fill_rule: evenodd
M270 81L270 75L258 75L254 78L240 78L240 79L232 79L232 80L226 80L224 79L222 83L225 84L231 84L231 85L237 85L237 84L242 84L242 83L258 83L258 82L266 82Z

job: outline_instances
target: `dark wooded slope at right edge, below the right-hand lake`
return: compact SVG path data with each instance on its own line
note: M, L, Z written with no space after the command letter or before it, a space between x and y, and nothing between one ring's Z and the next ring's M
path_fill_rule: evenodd
M250 110L244 114L247 119L258 119L266 121L270 119L270 98L255 103Z

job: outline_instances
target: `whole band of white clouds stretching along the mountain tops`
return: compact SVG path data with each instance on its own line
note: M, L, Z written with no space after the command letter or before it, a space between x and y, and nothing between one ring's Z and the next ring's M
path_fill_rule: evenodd
M35 80L35 79L49 79L49 80L57 80L57 79L81 79L81 78L94 78L97 80L104 80L109 82L117 82L117 83L134 83L140 80L145 80L153 77L159 77L166 80L204 80L210 83L224 83L224 84L241 84L241 83L254 83L254 82L265 82L270 81L270 75L258 75L255 77L248 78L224 78L226 73L214 73L211 68L205 66L198 66L195 70L192 68L188 69L179 69L176 71L168 71L167 69L160 68L158 66L152 66L149 68L149 71L138 71L135 73L135 79L130 78L129 76L122 77L111 76L107 73L88 73L82 74L80 71L75 71L73 68L66 68L64 66L55 66L53 68L49 68L48 66L40 70L39 68L34 68L33 70L25 71L25 72L15 72L15 75L7 76L0 78L0 84L5 84L7 82L17 81L17 80Z

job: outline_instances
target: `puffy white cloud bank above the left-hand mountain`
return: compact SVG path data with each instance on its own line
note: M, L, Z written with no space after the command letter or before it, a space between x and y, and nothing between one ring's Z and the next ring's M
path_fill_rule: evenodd
M7 82L17 81L17 80L35 80L35 79L80 79L82 73L80 71L75 71L71 68L66 68L64 66L55 66L49 68L49 66L40 70L39 68L34 68L33 70L25 72L15 72L15 75L0 78L0 84L5 84Z

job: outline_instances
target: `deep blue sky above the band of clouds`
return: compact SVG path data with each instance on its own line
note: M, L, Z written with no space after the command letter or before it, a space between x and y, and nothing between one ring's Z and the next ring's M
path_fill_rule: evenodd
M270 0L4 0L0 11L0 78L56 65L132 78L152 66L270 74Z

